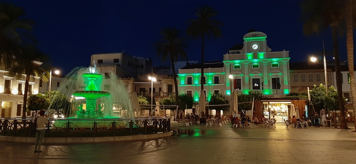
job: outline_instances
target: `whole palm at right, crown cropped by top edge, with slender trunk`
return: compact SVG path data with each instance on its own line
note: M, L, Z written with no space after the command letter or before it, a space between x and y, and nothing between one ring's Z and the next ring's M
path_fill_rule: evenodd
M337 41L338 29L343 18L342 3L342 0L303 0L300 6L302 8L303 32L305 35L320 34L329 26L331 27L333 54L335 57L337 99L341 113L340 128L348 129L345 119L344 99L342 97L340 57Z

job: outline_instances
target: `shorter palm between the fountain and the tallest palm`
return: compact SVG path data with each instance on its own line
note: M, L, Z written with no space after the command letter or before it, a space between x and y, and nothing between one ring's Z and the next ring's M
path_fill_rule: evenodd
M163 61L167 59L171 61L176 104L178 105L178 83L174 63L178 60L178 57L182 59L188 58L185 53L185 49L188 49L188 44L181 36L181 30L177 30L176 28L163 28L159 31L159 34L163 37L156 42L157 55L161 56L161 60Z

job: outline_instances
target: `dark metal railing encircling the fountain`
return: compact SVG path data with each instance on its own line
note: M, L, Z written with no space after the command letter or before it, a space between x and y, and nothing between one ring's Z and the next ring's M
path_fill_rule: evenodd
M35 119L0 118L0 135L34 137ZM45 137L108 137L171 131L170 118L55 119L46 124Z

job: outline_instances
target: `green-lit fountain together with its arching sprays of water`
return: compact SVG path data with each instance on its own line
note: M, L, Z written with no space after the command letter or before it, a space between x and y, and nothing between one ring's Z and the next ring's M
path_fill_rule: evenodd
M127 89L114 73L100 73L95 63L72 70L61 82L60 92L71 97L67 106L53 96L49 109L68 118L133 118Z

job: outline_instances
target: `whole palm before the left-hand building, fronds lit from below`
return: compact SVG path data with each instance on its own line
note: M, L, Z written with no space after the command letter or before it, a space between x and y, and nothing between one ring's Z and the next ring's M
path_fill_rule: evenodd
M47 55L40 52L33 46L25 46L21 48L21 53L16 58L16 63L9 70L11 75L15 75L18 78L23 74L26 75L25 81L25 93L23 94L23 107L22 118L26 118L26 102L29 89L29 81L35 76L40 77L44 81L47 81L49 77L48 71L41 67L41 62L47 59Z

